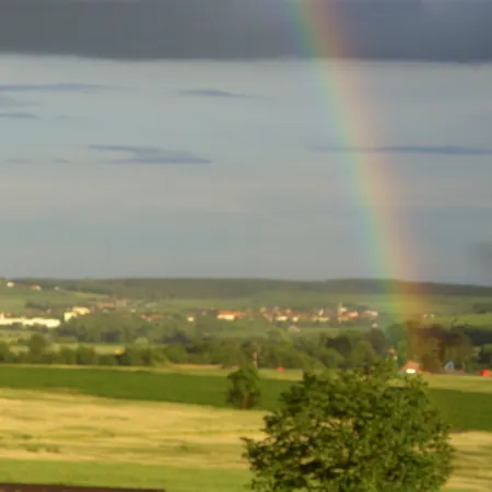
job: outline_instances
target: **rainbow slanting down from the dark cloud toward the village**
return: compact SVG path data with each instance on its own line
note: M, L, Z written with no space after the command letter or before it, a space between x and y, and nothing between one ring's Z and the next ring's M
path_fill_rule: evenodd
M406 239L405 220L395 213L398 203L396 181L384 154L356 152L350 149L374 148L380 144L377 122L364 94L363 81L356 71L342 62L330 63L323 58L354 55L343 30L340 12L327 11L324 0L288 0L288 22L294 26L295 42L302 54L312 58L314 77L319 80L326 114L335 115L338 148L347 152L345 176L349 194L359 210L360 226L365 231L372 277L409 279L413 277L410 243ZM411 271L413 270L413 271ZM413 311L403 286L387 291L394 296L399 313ZM415 300L414 296L413 301Z

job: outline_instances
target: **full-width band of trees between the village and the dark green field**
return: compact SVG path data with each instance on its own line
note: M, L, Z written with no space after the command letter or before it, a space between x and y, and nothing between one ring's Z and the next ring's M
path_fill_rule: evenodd
M95 345L121 340L124 349L119 352L99 353ZM254 363L258 368L353 370L391 355L399 365L414 361L429 372L442 372L449 361L464 372L492 366L492 330L424 326L417 321L393 325L386 330L319 330L306 335L269 327L261 337L202 331L179 324L152 327L144 323L134 327L124 323L87 328L81 321L56 331L40 329L31 338L21 337L16 344L24 345L24 350L1 343L0 361L148 366L187 363L223 367Z

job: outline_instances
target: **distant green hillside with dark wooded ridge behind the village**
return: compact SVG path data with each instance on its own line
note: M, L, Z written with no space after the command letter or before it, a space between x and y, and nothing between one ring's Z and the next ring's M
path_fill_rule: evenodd
M14 289L0 286L0 311L22 309L26 301L77 304L102 296L132 301L160 312L243 309L261 306L318 309L338 302L365 305L390 318L435 313L454 316L476 303L490 303L492 288L385 280L318 282L262 279L24 279ZM28 285L37 283L42 291ZM54 288L58 286L59 290Z

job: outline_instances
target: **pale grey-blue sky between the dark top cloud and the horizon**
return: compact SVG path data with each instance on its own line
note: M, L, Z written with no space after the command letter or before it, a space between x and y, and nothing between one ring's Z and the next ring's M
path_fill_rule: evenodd
M3 276L380 277L386 242L409 280L492 284L491 63L109 56L68 33L51 46L80 52L0 44ZM333 71L360 108L330 103ZM364 213L360 160L398 229Z

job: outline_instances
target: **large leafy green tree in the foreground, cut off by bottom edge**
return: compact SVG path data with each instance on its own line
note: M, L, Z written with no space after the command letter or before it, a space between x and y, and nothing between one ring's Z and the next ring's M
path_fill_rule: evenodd
M395 383L390 361L305 374L245 438L258 492L434 492L452 471L449 429L418 375Z

